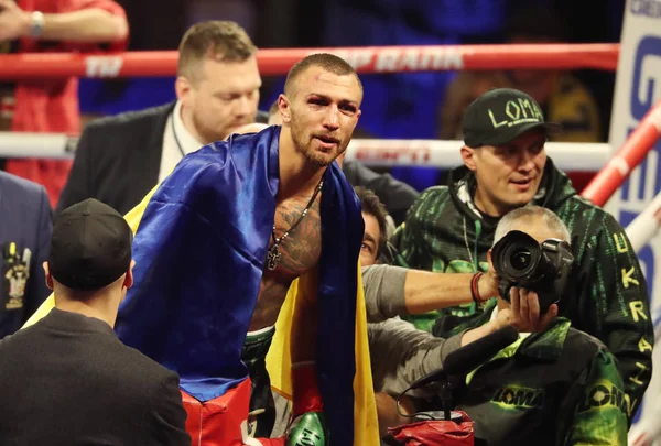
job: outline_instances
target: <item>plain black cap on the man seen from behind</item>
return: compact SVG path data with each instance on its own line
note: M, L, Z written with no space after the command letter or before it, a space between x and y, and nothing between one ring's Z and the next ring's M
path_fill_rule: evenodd
M56 217L48 269L72 290L100 290L129 271L133 232L110 206L88 198Z

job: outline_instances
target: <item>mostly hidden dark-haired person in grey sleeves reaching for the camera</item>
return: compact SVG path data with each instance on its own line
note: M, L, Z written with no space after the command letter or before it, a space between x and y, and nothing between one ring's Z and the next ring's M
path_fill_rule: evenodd
M362 187L355 189L365 220L360 262L367 314L371 322L368 336L379 433L383 437L388 427L411 421L398 413L393 395L442 368L444 359L459 347L506 325L513 325L519 330L543 330L555 317L557 306L541 317L539 312L522 311L521 306L516 313L503 309L494 320L447 340L416 329L397 316L472 302L473 274L436 274L378 264L386 244L387 211L373 192ZM498 280L492 271L479 278L479 284L475 285L478 301L486 301L498 292ZM408 399L401 402L404 407L412 409Z

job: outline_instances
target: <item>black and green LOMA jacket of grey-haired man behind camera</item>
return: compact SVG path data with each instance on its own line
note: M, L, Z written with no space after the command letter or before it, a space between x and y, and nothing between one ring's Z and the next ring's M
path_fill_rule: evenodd
M496 300L485 308L488 320ZM604 345L556 318L501 350L474 374L457 409L490 446L626 446L628 404L616 361Z

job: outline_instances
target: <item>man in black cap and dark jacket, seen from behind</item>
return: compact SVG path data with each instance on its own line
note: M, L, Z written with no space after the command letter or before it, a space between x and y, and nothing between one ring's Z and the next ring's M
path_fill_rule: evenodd
M87 199L55 220L44 262L55 308L0 341L0 444L189 446L178 376L120 342L132 232Z

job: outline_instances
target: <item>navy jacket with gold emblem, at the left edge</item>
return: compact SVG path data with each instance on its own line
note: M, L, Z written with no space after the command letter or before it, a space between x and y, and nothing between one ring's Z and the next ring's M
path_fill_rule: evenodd
M42 263L52 229L44 187L0 171L0 338L21 328L51 294Z

